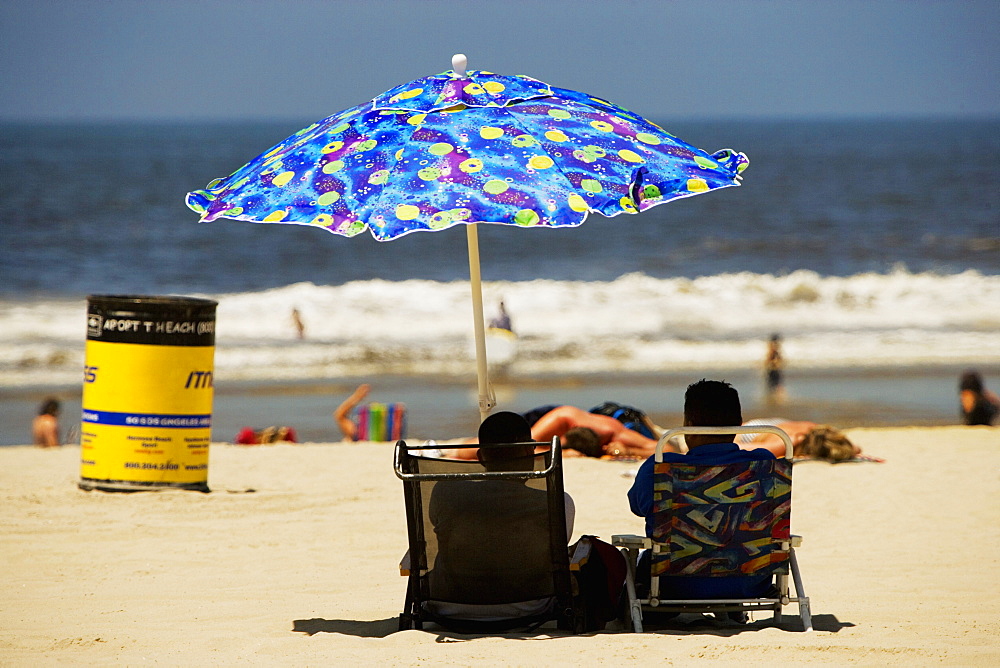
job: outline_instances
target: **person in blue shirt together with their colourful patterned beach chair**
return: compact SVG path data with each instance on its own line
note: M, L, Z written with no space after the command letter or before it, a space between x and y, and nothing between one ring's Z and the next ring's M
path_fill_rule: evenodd
M694 383L685 394L684 427L666 432L636 474L629 506L645 518L646 535L612 542L629 555L629 616L637 632L645 611L712 612L742 623L751 610L769 609L780 619L790 601L798 603L805 630L812 629L793 550L800 539L789 533L791 462L734 442L736 433L755 429L790 441L774 427L742 421L735 388ZM718 433L720 427L731 433ZM686 434L688 453L663 452L679 434ZM795 598L788 596L789 569Z

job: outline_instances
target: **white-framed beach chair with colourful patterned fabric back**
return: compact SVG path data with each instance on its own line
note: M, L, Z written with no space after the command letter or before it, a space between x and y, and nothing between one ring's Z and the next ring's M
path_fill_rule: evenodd
M775 427L685 427L666 432L656 446L653 473L653 537L612 536L628 561L628 615L642 632L643 612L732 613L771 610L775 623L782 607L797 603L806 631L812 630L809 599L802 587L790 533L792 463L788 459L748 461L725 466L693 466L662 461L664 444L680 434L776 433L792 451L787 434ZM640 549L650 551L649 592L636 593ZM642 560L645 567L646 560ZM643 576L645 574L642 574ZM795 584L789 595L788 576ZM754 577L773 586L750 598L661 598L666 578ZM641 579L645 579L644 577ZM674 581L676 582L676 581ZM704 580L702 580L704 582ZM667 583L670 584L670 583ZM626 620L627 621L627 620Z

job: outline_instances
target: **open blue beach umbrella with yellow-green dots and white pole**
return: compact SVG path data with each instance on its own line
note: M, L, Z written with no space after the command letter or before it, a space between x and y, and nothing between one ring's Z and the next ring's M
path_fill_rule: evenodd
M466 225L479 405L487 378L476 225L576 227L739 185L747 157L708 154L598 97L531 77L453 69L304 128L204 190L200 222L322 227L379 241Z

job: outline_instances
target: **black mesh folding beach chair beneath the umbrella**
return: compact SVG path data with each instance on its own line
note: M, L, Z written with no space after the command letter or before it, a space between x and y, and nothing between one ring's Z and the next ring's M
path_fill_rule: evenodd
M400 630L433 622L460 633L490 633L552 620L571 633L583 630L585 606L573 593L567 549L559 439L530 445L548 449L498 471L478 461L422 456L435 446L396 443L409 538L400 564L408 577Z

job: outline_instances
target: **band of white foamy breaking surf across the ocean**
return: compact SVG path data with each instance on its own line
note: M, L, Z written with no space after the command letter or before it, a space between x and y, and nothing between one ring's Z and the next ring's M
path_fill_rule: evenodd
M216 378L467 374L468 282L297 283L218 300ZM798 367L1000 363L1000 276L724 274L484 284L519 334L514 374L756 367L771 332ZM298 308L306 338L291 320ZM85 300L0 302L0 386L81 377Z

